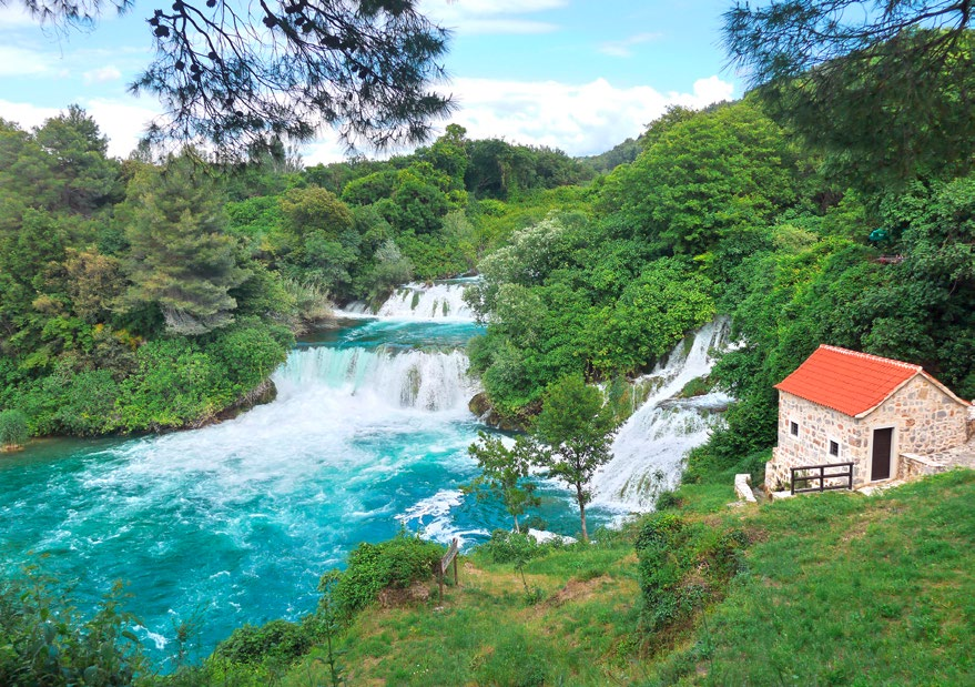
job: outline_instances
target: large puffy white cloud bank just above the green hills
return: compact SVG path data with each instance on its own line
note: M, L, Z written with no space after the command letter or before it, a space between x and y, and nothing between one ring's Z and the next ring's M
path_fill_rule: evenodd
M666 94L648 85L616 88L605 79L583 84L457 79L453 121L471 139L504 138L591 155L640 134L670 104L700 109L729 100L733 90L718 77L694 82L691 93Z

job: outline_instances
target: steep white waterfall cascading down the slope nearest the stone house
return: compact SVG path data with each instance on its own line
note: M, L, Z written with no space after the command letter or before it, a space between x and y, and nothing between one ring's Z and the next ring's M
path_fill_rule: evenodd
M687 452L708 441L719 422L714 411L730 397L720 392L685 400L674 396L688 382L711 372L711 353L727 345L728 333L724 320L704 325L641 380L654 391L623 424L612 445L612 459L596 474L596 505L647 511L661 491L677 486Z

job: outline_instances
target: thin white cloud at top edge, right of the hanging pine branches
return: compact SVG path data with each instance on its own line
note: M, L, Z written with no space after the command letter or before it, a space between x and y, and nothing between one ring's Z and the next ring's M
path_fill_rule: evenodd
M567 3L568 0L422 0L420 11L461 34L549 33L558 26L522 16L556 10Z

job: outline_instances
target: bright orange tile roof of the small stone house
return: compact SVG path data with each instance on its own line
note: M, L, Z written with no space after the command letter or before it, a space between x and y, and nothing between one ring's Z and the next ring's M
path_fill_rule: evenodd
M822 344L775 388L855 417L916 374L921 365Z

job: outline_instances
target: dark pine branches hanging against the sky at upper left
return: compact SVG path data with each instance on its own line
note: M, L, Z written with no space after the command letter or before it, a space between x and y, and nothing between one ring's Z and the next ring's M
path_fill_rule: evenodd
M20 2L42 23L91 27L106 6L131 0ZM205 6L205 7L204 7ZM417 142L450 110L430 84L446 31L414 0L223 0L156 9L148 20L155 59L135 92L159 97L166 115L153 139L209 139L246 158L256 144L308 140L322 123L349 143Z

